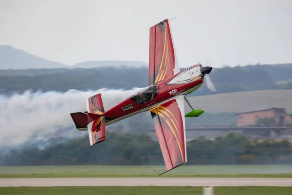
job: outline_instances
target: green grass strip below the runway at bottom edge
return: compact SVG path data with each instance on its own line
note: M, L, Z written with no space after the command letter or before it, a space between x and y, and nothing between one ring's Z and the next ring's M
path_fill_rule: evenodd
M202 187L1 187L6 195L202 195ZM292 187L216 187L215 195L292 195Z

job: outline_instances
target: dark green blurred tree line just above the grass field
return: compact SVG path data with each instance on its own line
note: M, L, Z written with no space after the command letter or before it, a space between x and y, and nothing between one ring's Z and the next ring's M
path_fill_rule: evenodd
M146 134L106 134L106 141L90 146L88 136L44 150L23 147L1 156L0 165L163 165L157 140ZM288 140L250 140L230 133L214 140L198 137L187 141L190 165L292 164Z

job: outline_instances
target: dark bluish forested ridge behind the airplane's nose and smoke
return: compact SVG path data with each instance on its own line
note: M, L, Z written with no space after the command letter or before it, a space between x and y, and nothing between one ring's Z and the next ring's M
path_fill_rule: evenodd
M183 70L183 69L182 69ZM292 89L292 82L276 84L279 80L292 79L292 64L250 65L214 68L210 74L218 93L254 91L264 89ZM99 67L0 70L0 93L22 93L32 91L65 92L70 89L81 91L132 89L148 85L148 68ZM193 95L209 95L203 85Z

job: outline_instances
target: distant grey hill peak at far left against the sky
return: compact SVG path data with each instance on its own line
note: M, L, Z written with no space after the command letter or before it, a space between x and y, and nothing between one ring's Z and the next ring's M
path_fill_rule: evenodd
M0 46L0 69L68 68L66 64L39 58L9 45Z

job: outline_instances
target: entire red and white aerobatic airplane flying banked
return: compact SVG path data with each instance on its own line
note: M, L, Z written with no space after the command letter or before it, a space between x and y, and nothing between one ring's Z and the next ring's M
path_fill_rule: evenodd
M151 112L166 173L187 161L185 117L199 117L204 110L194 110L185 95L199 89L204 81L208 89L216 91L208 77L211 70L212 67L202 67L199 63L180 71L169 20L166 19L150 28L149 86L106 112L101 94L97 94L86 101L87 111L71 113L71 117L79 131L88 131L90 145L94 145L106 140L107 125ZM184 100L192 109L186 115Z

